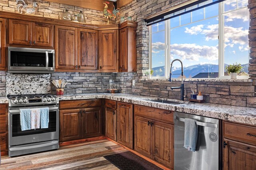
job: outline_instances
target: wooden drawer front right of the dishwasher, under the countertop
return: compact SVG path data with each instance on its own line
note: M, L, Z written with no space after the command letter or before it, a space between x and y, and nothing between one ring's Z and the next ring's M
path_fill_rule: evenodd
M256 144L256 127L224 121L224 137Z

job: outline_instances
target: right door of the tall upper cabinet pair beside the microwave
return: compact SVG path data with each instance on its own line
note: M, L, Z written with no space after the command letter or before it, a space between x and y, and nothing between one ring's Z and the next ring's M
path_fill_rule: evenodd
M78 68L98 68L98 33L94 30L78 29Z

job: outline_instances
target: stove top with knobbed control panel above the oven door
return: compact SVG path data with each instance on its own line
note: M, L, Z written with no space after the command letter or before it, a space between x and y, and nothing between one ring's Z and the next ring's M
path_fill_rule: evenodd
M59 99L52 94L8 95L9 107L58 104Z

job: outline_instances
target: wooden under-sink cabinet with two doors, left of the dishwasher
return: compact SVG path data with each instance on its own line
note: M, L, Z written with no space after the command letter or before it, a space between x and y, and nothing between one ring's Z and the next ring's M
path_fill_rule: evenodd
M134 150L173 169L173 111L134 106Z

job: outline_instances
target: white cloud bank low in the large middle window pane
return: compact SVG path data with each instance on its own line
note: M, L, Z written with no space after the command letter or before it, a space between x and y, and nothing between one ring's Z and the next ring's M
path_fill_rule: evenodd
M197 44L172 44L171 56L181 57L182 60L199 61L204 58L210 61L218 60L218 48Z

